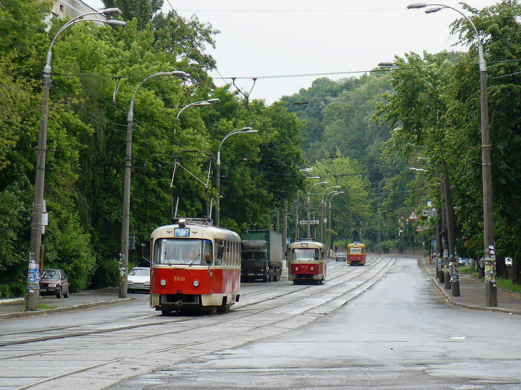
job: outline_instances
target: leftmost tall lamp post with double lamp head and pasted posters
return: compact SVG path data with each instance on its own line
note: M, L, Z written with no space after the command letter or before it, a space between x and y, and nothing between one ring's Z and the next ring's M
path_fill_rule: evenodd
M33 215L31 226L31 243L29 249L29 273L27 278L27 298L26 310L34 311L38 309L38 297L40 293L40 274L38 272L40 266L40 248L42 245L42 213L43 213L43 190L45 183L45 152L47 148L47 117L49 112L49 89L51 89L51 72L53 62L53 45L58 38L58 35L66 28L75 23L83 21L96 21L106 23L110 26L126 26L122 20L100 20L93 18L83 18L89 15L121 15L119 8L105 8L98 12L90 12L82 14L69 20L63 27L61 27L54 36L47 56L45 59L45 66L43 68L43 97L42 109L40 114L40 130L38 134L38 151L36 152L36 177L34 180L34 201L33 201Z

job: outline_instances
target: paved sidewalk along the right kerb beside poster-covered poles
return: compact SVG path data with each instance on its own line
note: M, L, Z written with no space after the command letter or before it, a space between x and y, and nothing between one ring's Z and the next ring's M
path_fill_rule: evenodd
M460 297L453 297L451 289L445 289L445 284L436 278L436 264L429 259L419 258L425 265L427 273L431 275L432 284L438 289L445 299L454 307L482 311L496 311L507 314L521 314L521 297L519 294L498 287L498 306L486 307L485 283L481 279L468 274L460 274Z

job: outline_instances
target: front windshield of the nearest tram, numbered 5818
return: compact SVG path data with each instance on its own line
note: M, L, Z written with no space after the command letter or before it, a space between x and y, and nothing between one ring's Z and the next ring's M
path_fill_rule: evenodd
M212 261L209 240L161 238L155 242L154 264L207 265Z

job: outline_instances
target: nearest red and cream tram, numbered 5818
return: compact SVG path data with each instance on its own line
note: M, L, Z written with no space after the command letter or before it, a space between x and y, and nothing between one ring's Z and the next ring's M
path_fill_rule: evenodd
M241 238L202 220L179 219L151 238L150 306L172 311L226 311L239 301Z

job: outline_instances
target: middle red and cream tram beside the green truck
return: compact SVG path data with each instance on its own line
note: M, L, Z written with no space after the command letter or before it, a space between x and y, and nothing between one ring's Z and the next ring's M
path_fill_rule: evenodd
M326 246L317 241L296 241L289 245L288 273L293 284L325 281L327 274Z

